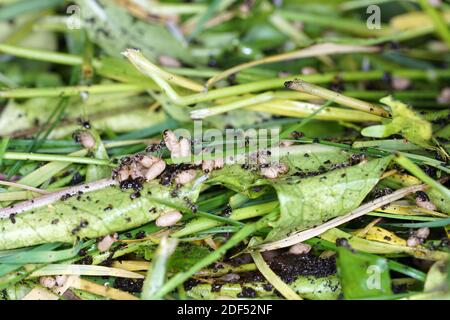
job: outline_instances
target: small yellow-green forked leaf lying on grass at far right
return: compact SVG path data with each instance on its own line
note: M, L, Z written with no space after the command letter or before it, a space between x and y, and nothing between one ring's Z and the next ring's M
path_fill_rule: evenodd
M433 134L431 124L422 119L406 104L394 100L391 96L380 100L391 107L392 121L384 125L364 128L361 134L366 137L386 138L393 134L401 134L406 139L422 147L429 146Z

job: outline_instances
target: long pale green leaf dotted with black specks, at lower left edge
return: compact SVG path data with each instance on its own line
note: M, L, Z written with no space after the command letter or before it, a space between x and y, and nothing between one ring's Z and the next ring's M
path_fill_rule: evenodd
M169 199L178 207L187 207L186 199L195 202L201 184L185 185L171 196L173 187L151 181L144 184L141 196L130 197L134 190L109 186L101 190L75 194L66 200L0 219L0 250L48 242L74 242L78 238L97 238L125 231L155 220L170 207L146 197ZM168 200L168 201L169 201Z

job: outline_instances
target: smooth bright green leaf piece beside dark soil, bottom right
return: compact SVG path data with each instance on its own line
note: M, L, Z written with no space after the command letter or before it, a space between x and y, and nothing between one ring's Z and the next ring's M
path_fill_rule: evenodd
M337 248L337 269L345 299L393 294L387 260Z

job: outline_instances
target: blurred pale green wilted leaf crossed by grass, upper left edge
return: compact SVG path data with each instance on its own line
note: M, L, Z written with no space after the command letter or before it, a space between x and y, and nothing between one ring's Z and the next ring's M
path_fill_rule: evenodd
M60 126L52 131L50 138L71 135L79 125L77 119L88 117L91 126L99 131L114 128L115 132L142 129L166 119L163 112L148 110L151 100L131 96L128 93L90 96L87 101L72 99ZM0 117L0 135L27 131L36 123L43 124L57 103L54 98L33 98L24 103L9 101ZM130 112L133 111L133 112Z

